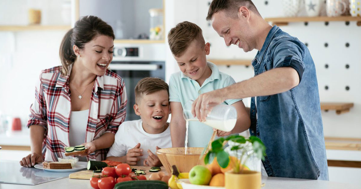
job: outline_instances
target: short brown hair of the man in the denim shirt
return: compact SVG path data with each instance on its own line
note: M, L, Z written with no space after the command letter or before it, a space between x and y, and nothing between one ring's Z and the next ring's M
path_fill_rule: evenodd
M251 0L213 0L208 9L206 20L212 20L214 13L223 10L227 16L238 18L238 11L240 7L247 7L252 12L261 16L255 4Z

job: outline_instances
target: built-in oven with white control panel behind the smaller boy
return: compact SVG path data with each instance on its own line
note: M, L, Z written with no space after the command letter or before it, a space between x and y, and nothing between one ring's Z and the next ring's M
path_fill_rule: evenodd
M109 69L123 78L127 93L126 121L140 119L134 113L134 89L144 77L165 80L164 44L114 44L113 61Z

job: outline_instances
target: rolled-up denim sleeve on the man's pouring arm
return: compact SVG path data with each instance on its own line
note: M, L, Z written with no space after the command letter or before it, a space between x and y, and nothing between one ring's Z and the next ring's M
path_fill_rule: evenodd
M301 82L305 70L303 44L296 39L284 37L272 45L271 52L273 52L273 68L291 67L297 71Z

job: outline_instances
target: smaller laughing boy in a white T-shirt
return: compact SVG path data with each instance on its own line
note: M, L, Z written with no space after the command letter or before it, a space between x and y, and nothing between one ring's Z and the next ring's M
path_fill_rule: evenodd
M134 111L141 119L119 126L106 159L133 166L162 166L155 151L171 147L168 84L160 78L140 80L135 86Z

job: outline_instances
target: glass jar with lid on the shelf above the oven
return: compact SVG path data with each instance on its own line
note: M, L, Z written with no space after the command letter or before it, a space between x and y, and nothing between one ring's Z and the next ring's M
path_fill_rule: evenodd
M163 25L163 9L149 9L150 17L150 35L151 40L164 39L164 25Z

